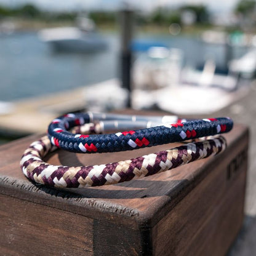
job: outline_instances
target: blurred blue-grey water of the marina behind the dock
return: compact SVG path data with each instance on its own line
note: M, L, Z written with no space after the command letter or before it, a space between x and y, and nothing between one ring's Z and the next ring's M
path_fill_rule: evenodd
M0 100L12 101L94 84L118 76L119 34L105 33L108 50L93 54L53 52L38 39L37 33L0 36ZM223 64L224 47L205 46L199 39L159 34L140 35L140 39L163 42L182 49L185 62L198 65L214 57ZM236 51L236 56L245 50Z

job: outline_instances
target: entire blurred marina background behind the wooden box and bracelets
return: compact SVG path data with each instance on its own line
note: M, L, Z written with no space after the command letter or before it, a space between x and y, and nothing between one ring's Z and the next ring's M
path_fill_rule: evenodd
M0 0L0 143L128 105L250 124L249 233L230 255L256 250L255 74L254 0Z

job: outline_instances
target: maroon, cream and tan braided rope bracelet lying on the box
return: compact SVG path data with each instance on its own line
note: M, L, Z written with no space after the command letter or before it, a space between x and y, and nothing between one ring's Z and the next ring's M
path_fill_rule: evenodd
M80 188L110 185L157 174L220 153L225 147L225 138L220 136L126 161L68 167L54 166L42 161L49 151L56 149L49 137L45 136L31 143L22 156L20 166L23 174L34 182L56 187Z

